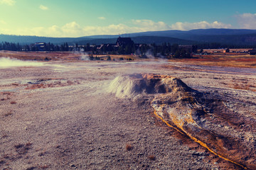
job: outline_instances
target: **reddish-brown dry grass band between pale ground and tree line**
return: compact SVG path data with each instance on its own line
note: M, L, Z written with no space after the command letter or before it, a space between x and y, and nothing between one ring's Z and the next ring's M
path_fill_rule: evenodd
M243 51L245 49L238 49L238 51ZM80 60L82 54L74 52L11 52L11 51L1 51L0 56L16 58L19 60L39 60L44 61L47 57L50 60L65 60L65 61L75 61ZM35 57L36 56L36 57ZM93 55L93 57L100 57L106 60L109 55ZM134 55L110 55L112 60L119 62L120 58L124 61L131 60L143 60L152 61L155 59L142 59ZM171 62L185 62L190 64L201 64L210 66L223 66L223 67L251 67L256 68L256 58L245 54L245 53L213 53L211 55L194 55L193 58L189 59L169 59ZM97 61L100 62L100 61Z

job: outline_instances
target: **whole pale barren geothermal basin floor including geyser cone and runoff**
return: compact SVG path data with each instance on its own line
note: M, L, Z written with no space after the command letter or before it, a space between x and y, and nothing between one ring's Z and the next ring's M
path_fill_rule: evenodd
M0 168L256 169L255 74L216 68L2 67Z

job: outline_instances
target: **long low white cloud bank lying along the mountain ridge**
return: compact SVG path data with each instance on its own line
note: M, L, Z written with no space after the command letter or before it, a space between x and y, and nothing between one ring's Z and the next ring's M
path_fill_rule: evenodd
M1 23L1 22L0 22ZM48 28L19 28L16 30L4 30L1 33L18 35L38 35L48 37L80 37L85 35L117 35L123 33L139 33L154 30L191 30L198 28L230 28L230 24L215 21L208 23L201 21L198 23L174 23L169 26L166 23L151 20L132 20L128 24L111 24L109 26L80 26L75 21L66 23L64 26L50 26Z

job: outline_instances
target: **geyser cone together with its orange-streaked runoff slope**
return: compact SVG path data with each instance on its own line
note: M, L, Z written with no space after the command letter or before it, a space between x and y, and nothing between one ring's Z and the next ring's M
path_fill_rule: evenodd
M108 91L119 98L153 95L154 114L170 128L238 169L256 169L256 121L230 111L226 101L193 90L176 77L157 74L116 77Z

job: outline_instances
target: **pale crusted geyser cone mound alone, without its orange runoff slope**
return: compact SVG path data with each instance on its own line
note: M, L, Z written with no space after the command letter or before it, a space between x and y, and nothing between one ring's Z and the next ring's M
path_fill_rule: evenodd
M180 79L156 74L130 74L116 77L109 92L119 98L134 98L143 94L166 94L171 91L190 91Z

